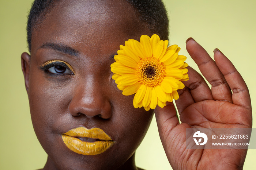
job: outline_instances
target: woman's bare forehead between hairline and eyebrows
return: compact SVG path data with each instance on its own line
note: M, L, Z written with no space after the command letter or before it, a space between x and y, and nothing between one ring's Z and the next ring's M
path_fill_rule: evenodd
M64 43L78 51L104 51L119 47L129 38L139 39L142 34L150 31L125 0L62 0L33 32L31 55L48 42Z

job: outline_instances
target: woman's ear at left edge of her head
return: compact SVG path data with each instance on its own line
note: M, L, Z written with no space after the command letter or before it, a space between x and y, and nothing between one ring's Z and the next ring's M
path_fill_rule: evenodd
M21 54L21 68L24 74L25 86L28 93L29 90L29 68L30 68L30 55L28 53Z

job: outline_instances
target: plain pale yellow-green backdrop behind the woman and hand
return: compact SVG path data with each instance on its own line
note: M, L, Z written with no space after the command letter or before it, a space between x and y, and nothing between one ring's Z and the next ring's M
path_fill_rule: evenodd
M255 0L164 0L170 19L170 44L181 47L193 37L211 55L219 48L248 85L256 128ZM46 154L33 131L20 55L27 51L26 19L32 0L0 0L0 169L34 170L44 167ZM197 69L198 70L198 69ZM256 167L256 150L248 150L244 169ZM170 169L155 118L136 152L136 165L147 170Z

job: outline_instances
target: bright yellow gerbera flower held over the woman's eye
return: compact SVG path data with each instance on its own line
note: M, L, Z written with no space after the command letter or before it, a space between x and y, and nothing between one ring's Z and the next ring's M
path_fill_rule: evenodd
M181 81L187 81L188 66L184 55L178 55L180 47L168 46L168 40L160 40L154 34L140 37L140 42L134 39L120 45L116 62L111 65L118 89L128 96L134 93L133 106L144 107L146 111L166 106L166 102L178 99L178 89L185 86Z

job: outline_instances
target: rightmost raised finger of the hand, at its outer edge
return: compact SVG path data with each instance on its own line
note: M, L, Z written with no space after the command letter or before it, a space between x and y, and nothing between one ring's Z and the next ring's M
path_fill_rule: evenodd
M224 75L225 80L233 92L233 104L239 105L252 111L250 94L244 79L236 70L234 65L221 51L215 49L214 52L214 59L216 64Z

